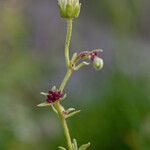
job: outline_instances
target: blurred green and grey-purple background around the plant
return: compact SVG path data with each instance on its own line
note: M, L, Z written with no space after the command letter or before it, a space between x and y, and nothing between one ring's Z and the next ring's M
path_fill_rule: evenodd
M105 67L85 67L66 87L71 136L91 150L150 149L150 1L81 0L71 53L102 48ZM65 74L66 22L56 0L0 0L0 150L65 146L41 91Z

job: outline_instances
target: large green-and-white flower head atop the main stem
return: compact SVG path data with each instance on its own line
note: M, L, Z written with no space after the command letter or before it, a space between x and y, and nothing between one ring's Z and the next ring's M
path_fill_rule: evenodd
M58 0L58 6L62 18L77 18L80 14L79 0Z

